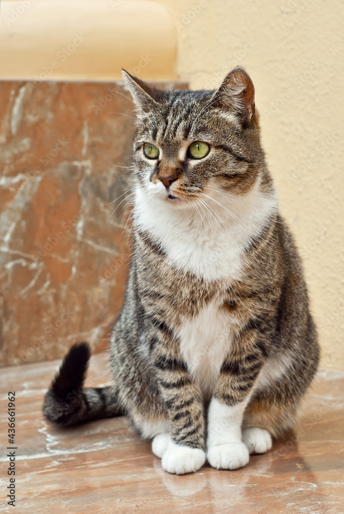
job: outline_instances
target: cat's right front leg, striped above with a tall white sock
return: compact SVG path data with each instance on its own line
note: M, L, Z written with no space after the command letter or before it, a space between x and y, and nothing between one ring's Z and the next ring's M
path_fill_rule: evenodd
M241 425L264 353L260 334L249 329L234 341L222 365L208 409L207 460L214 468L237 469L249 461L249 448L242 440Z

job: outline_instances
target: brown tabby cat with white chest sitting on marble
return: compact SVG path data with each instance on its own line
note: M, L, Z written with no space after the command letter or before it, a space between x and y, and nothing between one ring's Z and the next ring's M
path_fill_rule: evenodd
M133 254L113 387L83 388L87 343L46 394L60 426L128 415L170 473L245 466L293 427L319 347L242 67L215 91L123 70L137 111Z

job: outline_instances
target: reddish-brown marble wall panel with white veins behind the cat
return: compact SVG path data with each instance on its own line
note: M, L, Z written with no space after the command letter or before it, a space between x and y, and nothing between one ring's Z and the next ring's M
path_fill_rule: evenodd
M106 346L130 262L122 95L121 83L0 82L0 364Z

